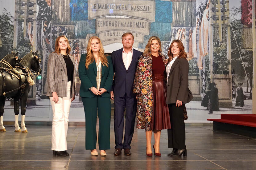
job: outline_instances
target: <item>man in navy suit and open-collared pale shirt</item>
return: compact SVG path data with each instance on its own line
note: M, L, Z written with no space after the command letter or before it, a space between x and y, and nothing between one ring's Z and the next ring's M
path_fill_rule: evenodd
M121 155L124 149L125 155L131 155L130 144L134 132L134 122L137 111L136 96L132 93L134 74L138 65L138 59L142 52L133 49L134 36L132 33L122 35L123 48L113 51L111 54L114 67L113 91L110 92L114 100L114 131L115 131L115 152L114 155ZM126 110L126 112L125 112ZM125 135L124 130L125 115Z

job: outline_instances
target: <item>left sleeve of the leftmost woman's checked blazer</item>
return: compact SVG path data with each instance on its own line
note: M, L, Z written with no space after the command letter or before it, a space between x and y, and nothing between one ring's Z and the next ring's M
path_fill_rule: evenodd
M57 92L56 83L55 83L55 65L56 65L56 53L51 53L47 62L47 74L46 79L48 83L48 88L50 89L50 93Z

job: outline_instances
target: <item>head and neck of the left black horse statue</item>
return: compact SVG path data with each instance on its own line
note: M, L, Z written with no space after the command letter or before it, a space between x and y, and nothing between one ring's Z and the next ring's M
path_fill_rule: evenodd
M0 69L4 71L9 71L15 67L16 63L19 63L21 58L18 58L18 53L14 53L13 51L10 54L7 54L3 59L0 61Z

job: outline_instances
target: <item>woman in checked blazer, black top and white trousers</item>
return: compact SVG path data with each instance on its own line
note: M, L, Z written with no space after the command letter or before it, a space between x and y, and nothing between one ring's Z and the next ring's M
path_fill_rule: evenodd
M68 115L75 99L74 57L69 54L68 39L61 35L56 39L55 51L47 62L46 96L52 105L52 150L54 155L69 156L67 150Z

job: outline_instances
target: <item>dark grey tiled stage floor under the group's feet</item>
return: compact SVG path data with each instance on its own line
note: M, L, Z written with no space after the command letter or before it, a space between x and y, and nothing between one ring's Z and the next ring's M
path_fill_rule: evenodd
M5 124L4 124L5 125ZM84 123L70 123L68 128L69 157L54 157L51 151L51 125L26 125L28 133L14 132L5 125L0 132L0 170L254 170L256 139L228 132L213 131L212 125L186 124L187 157L169 157L167 130L162 130L161 157L146 156L145 131L135 129L131 156L114 156L114 120L111 121L111 150L107 156L91 156L85 150ZM154 138L152 136L152 145ZM97 147L98 149L98 147ZM123 153L123 152L122 152Z

